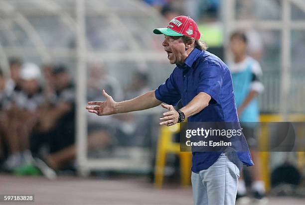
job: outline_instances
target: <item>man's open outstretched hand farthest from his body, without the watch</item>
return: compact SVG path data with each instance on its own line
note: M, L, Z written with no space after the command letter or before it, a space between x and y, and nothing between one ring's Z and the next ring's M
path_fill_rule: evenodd
M88 102L90 105L86 106L86 109L88 109L89 112L96 113L99 116L115 114L116 102L105 92L105 90L102 91L102 94L106 98L106 101Z

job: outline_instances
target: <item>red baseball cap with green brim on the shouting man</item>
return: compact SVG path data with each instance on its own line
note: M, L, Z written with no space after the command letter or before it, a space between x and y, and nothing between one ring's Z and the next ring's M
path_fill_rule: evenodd
M188 36L195 40L200 39L200 32L196 22L189 16L180 15L171 19L166 28L153 29L154 34L165 34L168 36Z

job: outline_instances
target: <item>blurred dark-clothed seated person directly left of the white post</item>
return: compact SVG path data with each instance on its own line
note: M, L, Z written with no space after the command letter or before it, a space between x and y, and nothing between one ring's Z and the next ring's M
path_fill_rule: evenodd
M60 166L53 153L62 150L75 141L75 91L70 75L64 65L52 68L51 83L54 93L47 106L40 112L40 122L31 135L30 147L34 156L40 156L43 147L48 149L46 156L40 156L53 167ZM42 172L44 172L43 168Z

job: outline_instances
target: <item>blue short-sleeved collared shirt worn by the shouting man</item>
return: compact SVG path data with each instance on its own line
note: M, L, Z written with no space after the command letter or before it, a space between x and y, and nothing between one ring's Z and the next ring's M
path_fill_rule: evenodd
M155 90L161 102L188 104L200 92L211 96L209 105L187 118L188 122L238 122L230 70L217 56L195 48L182 65L176 65L169 78ZM213 165L221 152L193 152L192 171ZM246 165L253 162L249 151L237 152Z

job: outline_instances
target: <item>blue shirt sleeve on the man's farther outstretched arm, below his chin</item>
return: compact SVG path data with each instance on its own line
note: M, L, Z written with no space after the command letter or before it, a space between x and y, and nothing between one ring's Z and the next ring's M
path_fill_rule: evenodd
M163 103L176 105L181 99L180 93L174 82L173 73L154 91L155 98Z

